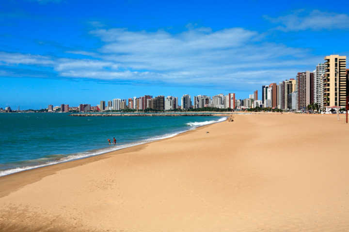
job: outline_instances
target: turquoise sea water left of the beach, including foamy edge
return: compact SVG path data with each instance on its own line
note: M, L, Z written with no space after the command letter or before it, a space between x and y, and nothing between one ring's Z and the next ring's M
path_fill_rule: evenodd
M0 114L0 176L172 137L218 116L76 117ZM115 137L116 145L109 145Z

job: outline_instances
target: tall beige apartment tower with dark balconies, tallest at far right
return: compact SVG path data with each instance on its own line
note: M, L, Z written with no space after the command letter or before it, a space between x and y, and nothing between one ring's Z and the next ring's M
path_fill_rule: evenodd
M322 79L323 107L345 106L347 93L346 62L346 56L331 55L325 57L325 75ZM339 99L337 99L338 94Z

